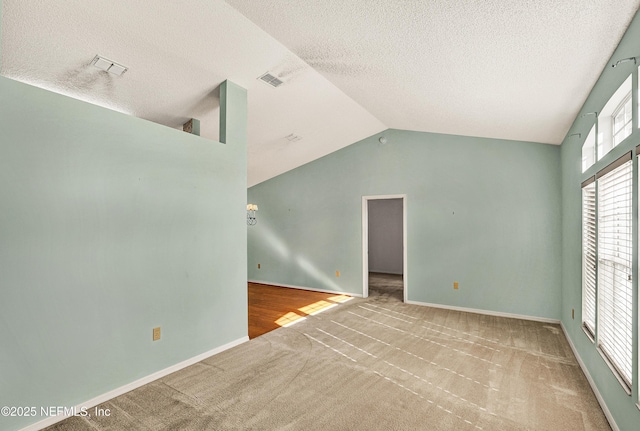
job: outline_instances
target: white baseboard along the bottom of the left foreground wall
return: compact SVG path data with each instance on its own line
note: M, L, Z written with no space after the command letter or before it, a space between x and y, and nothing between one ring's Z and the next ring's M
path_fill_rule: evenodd
M172 366L170 366L168 368L165 368L164 370L160 370L160 371L157 371L157 372L155 372L153 374L149 374L146 377L143 377L143 378L138 379L138 380L136 380L134 382L131 382L129 384L121 386L121 387L119 387L117 389L114 389L112 391L109 391L109 392L107 392L105 394L98 395L97 397L92 398L89 401L86 401L84 403L78 404L76 406L76 411L78 411L78 412L81 411L81 408L83 408L83 407L86 408L86 409L90 409L92 407L95 407L95 406L97 406L99 404L102 404L102 403L104 403L106 401L109 401L110 399L113 399L113 398L115 398L115 397L117 397L119 395L122 395L122 394L125 394L127 392L130 392L130 391L132 391L134 389L139 388L140 386L144 386L147 383L153 382L154 380L158 380L158 379L160 379L162 377L165 377L165 376L167 376L167 375L169 375L171 373L175 373L176 371L179 371L179 370L181 370L183 368L186 368L186 367L188 367L190 365L196 364L196 363L198 363L198 362L200 362L200 361L202 361L204 359L207 359L207 358L209 358L211 356L217 355L218 353L222 353L225 350L231 349L232 347L238 346L238 345L240 345L240 344L242 344L244 342L247 342L247 341L249 341L249 337L248 336L245 336L245 337L242 337L242 338L238 338L237 340L231 341L230 343L227 343L227 344L222 345L220 347L216 347L215 349L209 350L208 352L204 352L204 353L202 353L202 354L200 354L198 356L194 356L193 358L187 359L186 361L179 362L179 363L177 363L175 365L172 365ZM25 428L22 428L20 431L38 431L38 430L41 430L41 429L46 428L48 426L51 426L51 425L53 425L53 424L55 424L57 422L60 422L60 421L62 421L64 419L66 419L67 417L69 417L69 416L68 415L51 416L51 417L43 419L43 420L41 420L39 422L31 424L31 425L29 425L29 426L27 426Z

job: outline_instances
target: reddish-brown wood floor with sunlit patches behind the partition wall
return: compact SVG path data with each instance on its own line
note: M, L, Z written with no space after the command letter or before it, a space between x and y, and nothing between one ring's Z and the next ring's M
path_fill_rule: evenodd
M347 295L249 283L249 338L351 299Z

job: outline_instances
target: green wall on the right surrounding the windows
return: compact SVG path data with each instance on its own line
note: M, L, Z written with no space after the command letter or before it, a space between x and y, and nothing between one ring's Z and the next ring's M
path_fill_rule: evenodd
M634 383L633 394L628 396L613 373L604 362L604 359L596 350L594 344L582 331L582 194L580 184L596 171L608 165L622 154L640 144L640 133L637 129L637 65L633 62L623 63L616 68L611 64L622 58L634 57L640 54L640 17L636 15L629 26L624 38L620 42L615 53L605 65L605 68L587 98L583 108L578 114L571 130L567 133L562 143L562 323L565 326L569 338L575 345L580 358L589 370L589 374L595 381L598 391L611 411L618 427L622 431L637 431L640 429L640 411L636 407L638 401L638 252L637 244L634 248ZM640 64L640 62L639 62ZM586 112L601 111L611 95L620 84L633 74L632 92L634 102L634 129L633 134L620 146L614 148L611 153L600 160L596 165L584 174L581 172L582 144L594 122L593 116L582 117ZM574 133L581 133L580 139L570 137ZM634 158L634 238L638 237L637 231L637 160ZM575 319L571 318L571 309L575 309Z

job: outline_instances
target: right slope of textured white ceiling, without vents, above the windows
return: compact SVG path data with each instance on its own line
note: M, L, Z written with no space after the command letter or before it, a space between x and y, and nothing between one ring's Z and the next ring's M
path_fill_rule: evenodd
M638 0L228 0L387 126L559 144Z

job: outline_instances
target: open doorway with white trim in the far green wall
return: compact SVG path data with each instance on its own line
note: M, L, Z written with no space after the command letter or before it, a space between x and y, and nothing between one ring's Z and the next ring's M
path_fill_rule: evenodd
M362 296L370 289L407 301L407 197L362 197Z

